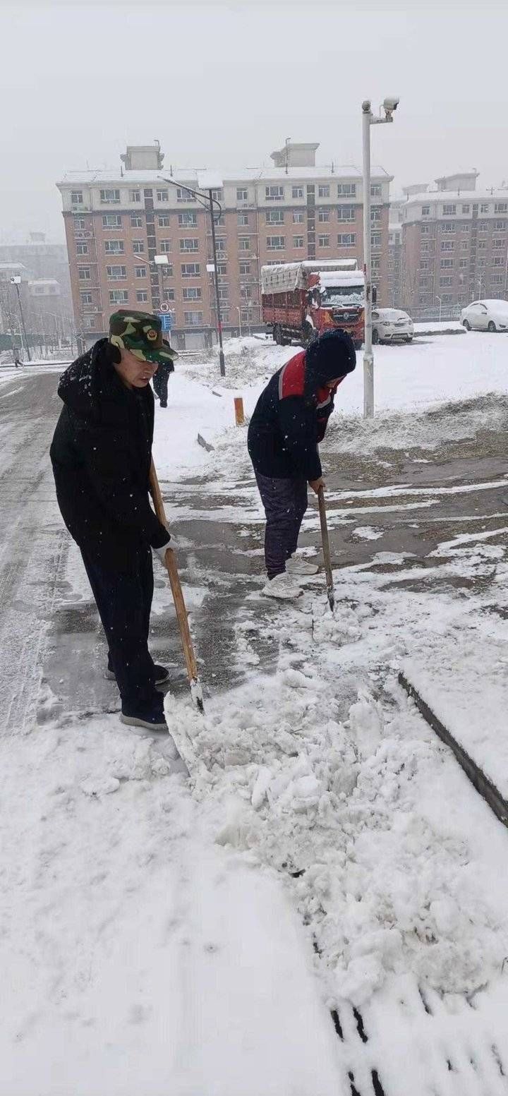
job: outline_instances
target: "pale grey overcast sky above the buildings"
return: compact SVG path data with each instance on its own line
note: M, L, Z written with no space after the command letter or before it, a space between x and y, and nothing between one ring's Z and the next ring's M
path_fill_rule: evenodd
M408 10L406 10L408 9ZM62 240L65 171L159 138L166 167L253 167L286 137L361 165L362 99L397 94L372 161L405 183L508 179L508 5L450 0L10 5L0 0L0 239Z

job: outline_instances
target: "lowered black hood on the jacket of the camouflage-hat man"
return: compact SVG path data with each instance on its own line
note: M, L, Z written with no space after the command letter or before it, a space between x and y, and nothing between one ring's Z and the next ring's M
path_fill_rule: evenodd
M104 418L105 404L118 401L122 381L113 368L107 339L100 339L62 373L58 395L66 407L83 419Z

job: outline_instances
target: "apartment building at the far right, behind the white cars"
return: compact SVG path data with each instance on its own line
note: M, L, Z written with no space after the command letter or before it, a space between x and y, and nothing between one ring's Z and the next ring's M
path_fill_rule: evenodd
M406 190L402 299L413 315L508 297L508 189L476 181L472 171Z

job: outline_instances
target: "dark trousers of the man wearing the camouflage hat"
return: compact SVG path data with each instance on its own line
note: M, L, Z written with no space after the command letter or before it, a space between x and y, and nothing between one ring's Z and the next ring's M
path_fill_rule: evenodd
M106 633L107 664L115 674L122 706L161 706L161 695L154 686L153 660L148 650L153 596L151 549L140 547L128 571L102 567L85 549L80 550Z

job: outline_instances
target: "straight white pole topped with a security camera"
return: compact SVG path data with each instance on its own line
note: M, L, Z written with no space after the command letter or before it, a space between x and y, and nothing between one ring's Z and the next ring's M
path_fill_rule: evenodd
M365 340L363 340L363 416L372 419L374 413L374 358L372 353L372 261L370 224L370 127L393 122L393 112L399 99L393 96L383 102L384 117L374 115L370 99L361 104L363 142L363 270L365 270Z

